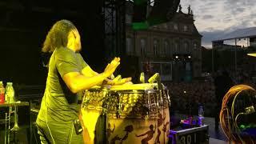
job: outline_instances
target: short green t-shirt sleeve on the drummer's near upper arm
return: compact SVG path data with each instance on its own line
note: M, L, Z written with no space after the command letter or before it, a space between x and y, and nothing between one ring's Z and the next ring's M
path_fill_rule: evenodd
M62 48L56 51L55 61L58 73L62 76L70 72L80 72L79 70L79 60L72 50L67 50L67 48Z

